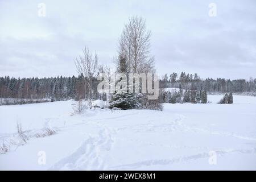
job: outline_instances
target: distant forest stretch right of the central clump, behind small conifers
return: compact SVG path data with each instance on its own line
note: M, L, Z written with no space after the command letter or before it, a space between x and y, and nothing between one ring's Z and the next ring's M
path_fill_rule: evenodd
M172 73L170 76L164 75L159 82L160 88L181 88L187 90L206 90L209 93L248 93L256 96L256 78L250 78L249 81L245 79L229 80L225 78L201 79L197 73L186 74L181 72L178 76L177 73Z

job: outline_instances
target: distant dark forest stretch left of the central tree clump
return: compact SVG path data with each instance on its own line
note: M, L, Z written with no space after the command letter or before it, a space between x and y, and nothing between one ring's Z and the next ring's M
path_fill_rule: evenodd
M25 100L50 98L53 101L86 98L84 76L50 78L0 77L0 98L23 98ZM93 78L93 98L98 98L97 78Z

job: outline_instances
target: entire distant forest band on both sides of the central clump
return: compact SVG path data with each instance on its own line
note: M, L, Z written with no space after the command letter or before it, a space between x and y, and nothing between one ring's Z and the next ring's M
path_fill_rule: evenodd
M50 78L14 78L0 77L0 96L2 104L26 104L33 102L60 101L85 98L84 76L78 77L50 77ZM101 96L97 92L98 81L94 77L92 81L93 99ZM225 78L202 79L195 73L186 74L181 72L164 75L159 80L160 88L181 88L185 90L205 90L211 93L236 93L256 96L256 79L229 80ZM12 99L12 100L10 100ZM16 101L14 99L23 99ZM5 102L3 102L5 101Z

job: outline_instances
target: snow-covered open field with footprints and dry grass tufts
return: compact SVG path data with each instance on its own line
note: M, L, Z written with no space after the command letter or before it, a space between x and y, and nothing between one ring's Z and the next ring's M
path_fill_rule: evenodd
M256 170L256 97L216 104L221 97L164 104L163 111L97 108L81 115L71 114L73 101L0 106L0 141L11 147L0 154L0 169ZM22 146L17 122L31 135ZM57 133L35 137L46 127ZM41 154L46 164L38 163Z

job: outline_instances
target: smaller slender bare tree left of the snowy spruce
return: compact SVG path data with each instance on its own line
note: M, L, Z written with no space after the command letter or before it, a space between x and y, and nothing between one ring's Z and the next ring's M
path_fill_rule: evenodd
M98 56L96 52L92 56L92 52L86 47L82 51L83 55L75 60L75 64L77 72L84 75L85 97L88 96L88 106L92 108L92 80L97 75Z

